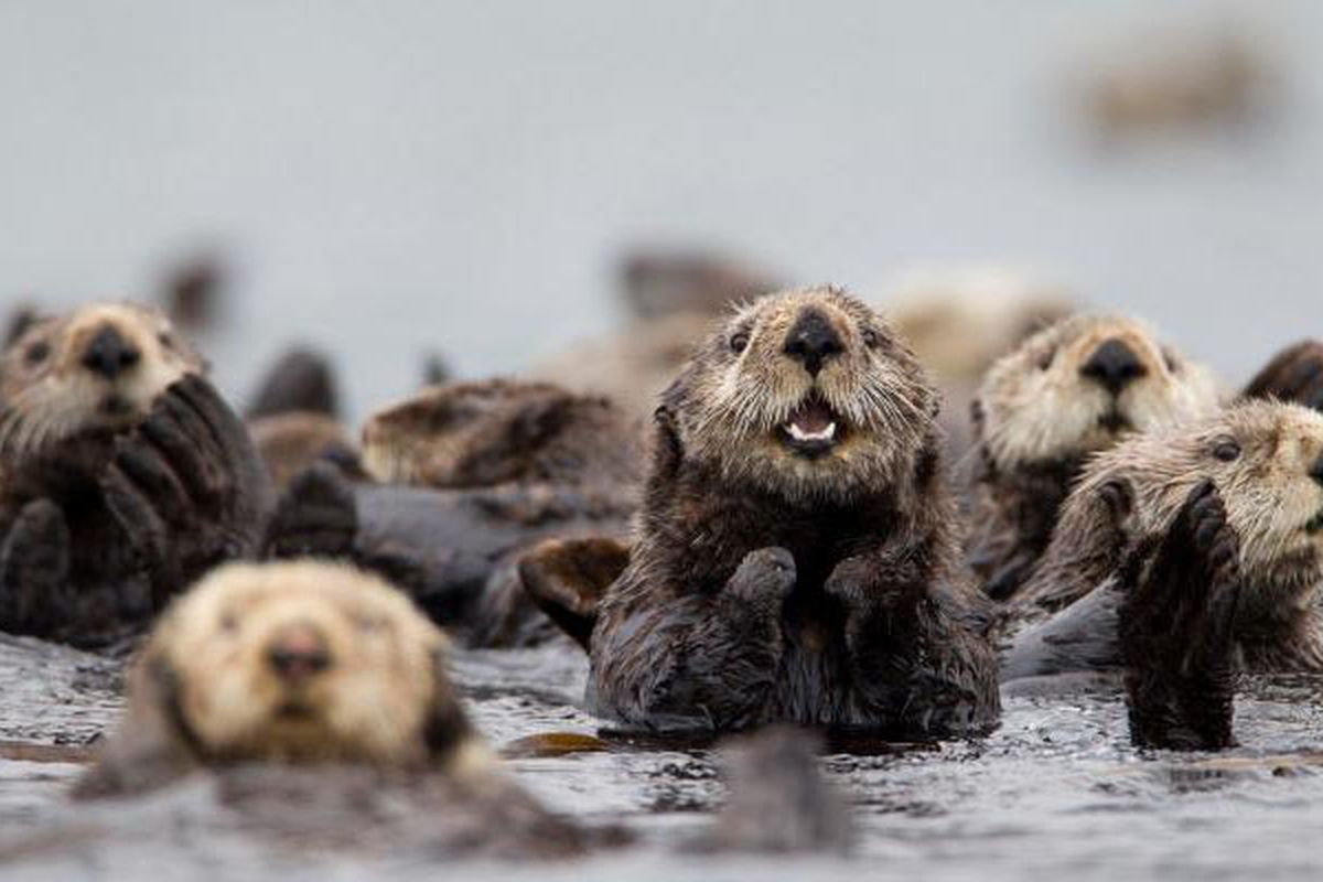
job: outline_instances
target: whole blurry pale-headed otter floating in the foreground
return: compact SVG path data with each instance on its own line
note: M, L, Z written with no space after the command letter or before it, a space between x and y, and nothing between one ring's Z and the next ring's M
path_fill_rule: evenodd
M206 772L230 808L274 828L261 832L308 834L298 816L315 820L328 796L336 826L376 825L390 809L366 807L388 792L447 850L581 850L578 828L501 774L445 651L407 598L352 567L220 567L161 616L131 669L123 725L75 795L128 797ZM345 792L361 816L345 815Z

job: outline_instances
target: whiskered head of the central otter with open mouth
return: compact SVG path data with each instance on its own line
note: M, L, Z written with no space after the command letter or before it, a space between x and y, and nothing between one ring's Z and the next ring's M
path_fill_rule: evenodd
M914 356L835 287L740 309L662 399L685 458L790 499L893 488L937 431Z

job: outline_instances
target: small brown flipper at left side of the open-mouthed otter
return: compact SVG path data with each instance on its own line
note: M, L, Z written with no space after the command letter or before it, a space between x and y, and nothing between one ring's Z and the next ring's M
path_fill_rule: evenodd
M587 651L598 603L628 562L628 546L617 540L550 540L520 558L519 575L542 612Z

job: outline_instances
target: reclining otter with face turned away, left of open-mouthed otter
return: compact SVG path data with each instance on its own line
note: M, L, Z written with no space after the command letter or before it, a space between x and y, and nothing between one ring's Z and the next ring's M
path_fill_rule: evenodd
M363 461L295 479L273 524L280 557L341 557L389 575L476 645L558 635L517 557L550 536L623 538L636 508L638 430L599 397L548 383L456 383L373 417Z

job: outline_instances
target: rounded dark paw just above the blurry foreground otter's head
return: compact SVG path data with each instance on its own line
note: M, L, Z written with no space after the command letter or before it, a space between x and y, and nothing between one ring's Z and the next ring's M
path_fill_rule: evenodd
M316 463L277 502L262 550L271 558L348 558L357 533L353 487L331 463Z

